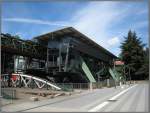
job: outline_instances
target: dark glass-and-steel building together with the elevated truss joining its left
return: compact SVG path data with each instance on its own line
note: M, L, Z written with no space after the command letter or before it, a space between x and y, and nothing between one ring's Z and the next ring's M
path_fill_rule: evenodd
M53 78L59 83L96 82L111 77L109 68L117 58L72 27L34 37L32 41L2 37L2 55L23 56L24 73ZM37 67L31 66L33 61ZM5 72L7 66L3 65Z

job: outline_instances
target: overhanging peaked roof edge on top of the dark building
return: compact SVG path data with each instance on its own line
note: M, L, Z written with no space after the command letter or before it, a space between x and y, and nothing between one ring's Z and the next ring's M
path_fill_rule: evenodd
M79 31L77 31L73 27L67 27L67 28L53 31L50 33L46 33L46 34L43 34L43 35L40 35L40 36L37 36L34 38L40 39L43 41L48 41L49 38L56 38L56 37L65 36L68 34L71 34L71 36L79 38L80 40L86 42L86 44L88 44L92 47L96 47L96 48L100 49L100 51L103 51L104 53L110 55L111 57L117 58L114 54L112 54L111 52L109 52L108 50L106 50L105 48L103 48L102 46L100 46L99 44L97 44L96 42L94 42L93 40L91 40L90 38L85 36L84 34L80 33Z

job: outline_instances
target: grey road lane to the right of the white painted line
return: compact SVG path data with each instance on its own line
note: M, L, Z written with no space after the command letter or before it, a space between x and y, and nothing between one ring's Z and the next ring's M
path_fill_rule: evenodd
M99 111L103 112L148 112L149 110L149 89L148 84L139 84L116 101L110 102Z

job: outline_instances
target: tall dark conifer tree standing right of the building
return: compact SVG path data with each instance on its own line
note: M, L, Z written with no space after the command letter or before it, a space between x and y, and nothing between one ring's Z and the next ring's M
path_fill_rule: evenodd
M121 43L121 58L125 62L125 65L130 68L131 79L141 79L143 75L136 72L144 64L143 48L145 44L131 30L129 30L128 36L124 38L124 42Z

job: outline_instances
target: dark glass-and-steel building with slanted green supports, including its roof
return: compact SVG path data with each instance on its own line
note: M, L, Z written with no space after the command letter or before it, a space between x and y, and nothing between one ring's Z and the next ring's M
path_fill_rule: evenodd
M96 82L109 76L108 68L117 57L69 27L50 32L34 40L47 46L47 71L59 82ZM62 77L62 78L61 78Z

